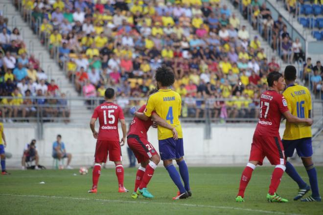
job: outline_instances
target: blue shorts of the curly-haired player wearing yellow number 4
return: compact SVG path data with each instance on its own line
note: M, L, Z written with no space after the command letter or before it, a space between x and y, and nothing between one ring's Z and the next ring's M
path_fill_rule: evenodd
M183 138L174 140L172 137L159 140L161 160L180 159L184 156Z

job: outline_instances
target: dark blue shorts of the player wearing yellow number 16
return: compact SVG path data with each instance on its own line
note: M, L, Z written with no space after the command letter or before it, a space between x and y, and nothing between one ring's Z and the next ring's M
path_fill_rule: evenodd
M313 154L312 137L301 138L297 140L281 140L285 156L292 157L296 149L300 157L311 157Z

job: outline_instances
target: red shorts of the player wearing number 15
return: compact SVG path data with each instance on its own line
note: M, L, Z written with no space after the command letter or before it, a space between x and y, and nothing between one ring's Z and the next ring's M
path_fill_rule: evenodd
M109 153L110 161L121 161L121 146L119 141L98 140L95 147L95 163L106 163Z

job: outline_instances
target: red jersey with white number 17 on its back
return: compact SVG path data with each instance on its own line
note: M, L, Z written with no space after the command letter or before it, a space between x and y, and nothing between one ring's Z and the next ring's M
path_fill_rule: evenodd
M286 99L274 90L267 90L260 96L259 122L254 133L279 136L282 113L288 111Z

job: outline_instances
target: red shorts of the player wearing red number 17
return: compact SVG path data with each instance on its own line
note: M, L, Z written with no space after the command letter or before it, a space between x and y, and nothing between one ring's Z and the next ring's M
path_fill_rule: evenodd
M258 161L262 165L267 157L272 165L285 165L284 148L280 137L254 134L249 161Z

